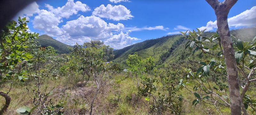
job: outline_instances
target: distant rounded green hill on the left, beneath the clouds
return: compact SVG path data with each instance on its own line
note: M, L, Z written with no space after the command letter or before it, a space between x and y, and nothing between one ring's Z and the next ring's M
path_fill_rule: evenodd
M53 39L51 36L45 34L39 36L36 41L38 42L37 45L41 45L42 47L52 46L55 50L57 50L57 53L59 54L69 53L70 51L68 50L68 48L72 47L70 45L59 42Z

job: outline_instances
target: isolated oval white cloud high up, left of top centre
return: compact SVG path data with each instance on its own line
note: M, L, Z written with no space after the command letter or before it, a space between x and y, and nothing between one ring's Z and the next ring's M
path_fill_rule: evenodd
M99 16L100 18L112 19L115 21L131 19L133 16L131 11L123 5L100 5L95 8L92 15Z

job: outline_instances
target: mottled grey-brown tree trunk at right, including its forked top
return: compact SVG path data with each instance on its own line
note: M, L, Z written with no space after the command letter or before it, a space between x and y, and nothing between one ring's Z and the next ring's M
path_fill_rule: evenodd
M241 115L241 98L238 82L238 69L236 66L235 51L228 27L228 13L237 0L206 0L212 6L217 16L217 27L223 47L223 55L227 65L228 89L231 105L231 115Z

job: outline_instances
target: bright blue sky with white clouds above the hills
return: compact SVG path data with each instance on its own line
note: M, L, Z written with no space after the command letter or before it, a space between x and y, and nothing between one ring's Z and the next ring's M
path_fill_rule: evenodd
M256 27L254 6L255 0L238 0L228 15L230 28ZM29 18L31 32L60 42L101 40L114 49L187 29L216 30L205 0L41 0L17 16Z

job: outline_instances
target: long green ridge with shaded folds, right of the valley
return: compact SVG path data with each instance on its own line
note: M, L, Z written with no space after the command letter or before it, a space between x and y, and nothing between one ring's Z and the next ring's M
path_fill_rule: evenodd
M210 37L215 32L205 32L204 36ZM236 40L251 41L256 36L256 28L243 28L231 30L230 33L236 36ZM236 41L235 39L233 41ZM194 55L185 50L186 39L181 34L163 36L161 38L146 40L120 50L115 50L114 62L125 63L129 54L138 52L140 57L154 57L157 64L176 62L179 60L200 60L201 58L211 58L209 55L201 55L199 52Z

